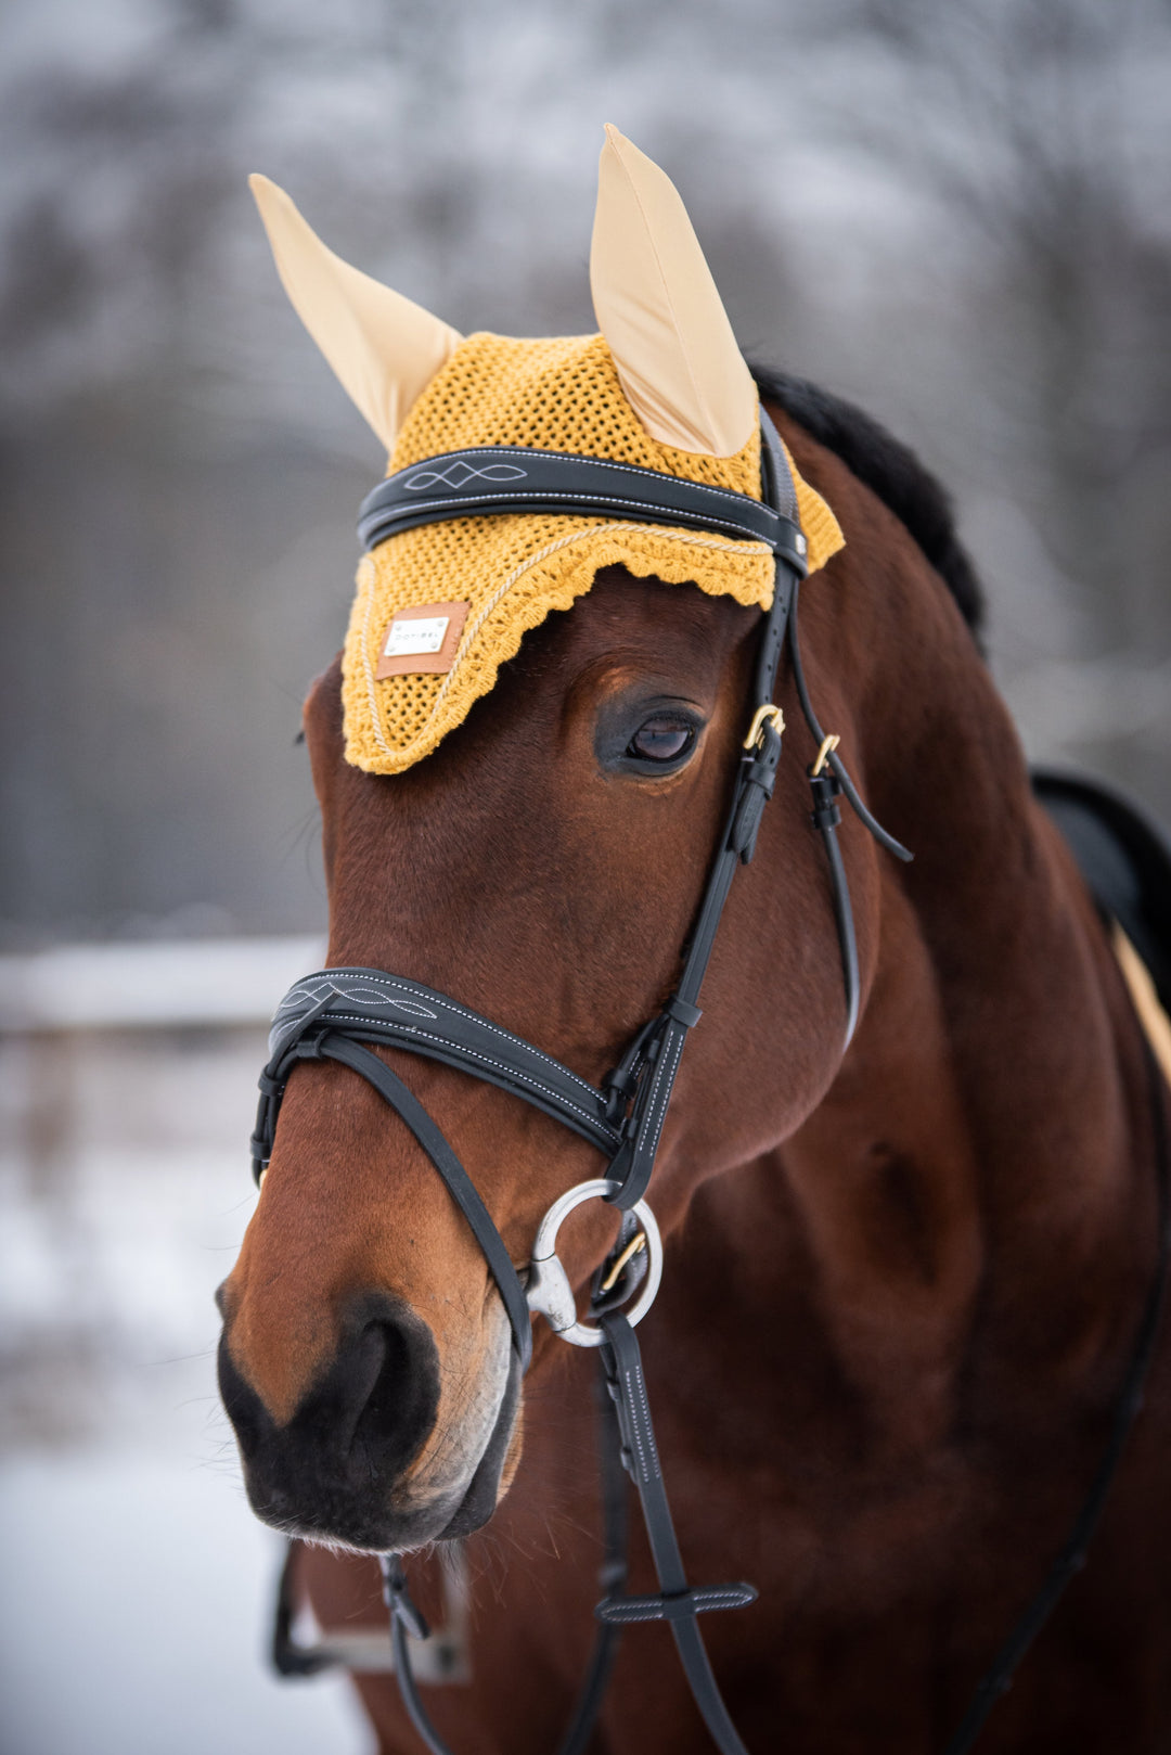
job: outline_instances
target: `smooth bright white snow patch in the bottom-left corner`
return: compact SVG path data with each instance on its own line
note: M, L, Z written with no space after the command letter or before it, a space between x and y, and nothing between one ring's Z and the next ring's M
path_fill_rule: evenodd
M372 1748L348 1683L267 1671L279 1543L181 1420L153 1450L11 1455L0 1544L5 1755Z

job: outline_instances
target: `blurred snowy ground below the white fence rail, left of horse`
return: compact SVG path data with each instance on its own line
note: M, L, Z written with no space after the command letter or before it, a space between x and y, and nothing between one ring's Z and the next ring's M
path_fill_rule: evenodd
M4 1755L372 1748L344 1681L267 1669L281 1544L216 1399L262 1058L262 1027L0 1039Z

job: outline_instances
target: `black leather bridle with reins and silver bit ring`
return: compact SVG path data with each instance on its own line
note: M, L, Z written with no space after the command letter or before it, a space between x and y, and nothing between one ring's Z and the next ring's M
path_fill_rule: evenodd
M772 797L781 756L783 718L774 704L776 674L788 644L794 684L818 755L808 770L813 825L822 835L829 862L830 892L844 985L843 1049L858 1018L860 976L853 911L837 825L844 795L857 816L897 858L911 855L862 804L837 739L822 728L806 688L801 663L797 600L806 572L806 542L797 519L797 498L785 451L769 418L762 412L762 500L708 488L657 470L599 463L562 453L507 451L525 463L525 486L507 493L485 488L485 456L497 451L472 449L430 458L381 483L362 507L358 532L367 546L397 530L444 518L493 516L518 511L606 516L637 523L660 521L718 528L748 542L767 542L776 558L776 590L765 614L753 693L746 711L746 735L732 783L732 800L716 856L708 874L699 913L683 955L678 986L665 1006L636 1034L616 1069L593 1086L569 1067L479 1016L446 993L379 969L327 969L298 981L281 1002L269 1039L269 1064L260 1078L260 1113L253 1135L256 1181L267 1169L277 1113L290 1074L302 1060L334 1060L365 1078L414 1134L453 1200L463 1213L497 1281L513 1330L520 1369L532 1357L530 1313L546 1316L562 1339L599 1350L602 1365L602 1508L604 1564L602 1601L595 1615L599 1632L593 1655L558 1755L583 1755L602 1708L616 1637L632 1622L665 1620L671 1625L688 1687L722 1755L748 1755L716 1687L697 1616L713 1609L753 1602L751 1585L692 1587L679 1555L662 1467L655 1444L636 1325L653 1304L662 1276L662 1243L644 1195L662 1137L688 1032L699 1023L699 993L711 958L720 916L739 865L757 848L764 807ZM463 469L453 465L463 463ZM414 477L425 477L427 498L420 500ZM446 477L455 477L451 486ZM516 476L509 477L516 479ZM604 1176L567 1190L542 1218L534 1241L527 1279L511 1264L488 1209L442 1132L413 1092L365 1044L404 1048L444 1065L486 1079L590 1141L607 1160ZM1064 1585L1081 1562L1101 1515L1110 1481L1141 1400L1141 1386L1153 1351L1153 1337L1166 1278L1166 1185L1167 1144L1157 1071L1152 1064L1152 1100L1159 1130L1160 1255L1155 1283L1143 1316L1138 1344L1120 1395L1111 1441L1069 1541L1052 1567L1041 1592L1025 1611L997 1655L946 1755L971 1748L1013 1669L1039 1632ZM564 1218L592 1199L616 1206L623 1218L611 1257L593 1281L590 1314L578 1320L574 1288L557 1255L557 1232ZM629 1307L627 1307L629 1306ZM634 1479L658 1576L653 1595L625 1595L625 1481ZM449 1755L423 1708L407 1646L407 1634L427 1637L427 1625L407 1594L399 1555L383 1557L383 1580L390 1608L393 1664L404 1704L432 1755ZM293 1665L290 1665L293 1667Z

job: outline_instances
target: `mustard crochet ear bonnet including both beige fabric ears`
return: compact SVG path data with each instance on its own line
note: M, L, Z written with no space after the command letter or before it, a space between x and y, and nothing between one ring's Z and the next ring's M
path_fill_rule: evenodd
M284 290L390 451L390 477L414 470L406 481L423 493L481 476L507 484L525 451L560 451L760 498L757 386L683 202L616 128L606 130L590 256L599 335L462 337L341 261L276 184L251 184ZM479 455L446 462L469 449ZM792 474L813 572L843 535ZM342 660L346 758L399 774L430 755L528 628L611 565L760 609L772 602L771 548L693 523L537 509L395 528L358 567Z

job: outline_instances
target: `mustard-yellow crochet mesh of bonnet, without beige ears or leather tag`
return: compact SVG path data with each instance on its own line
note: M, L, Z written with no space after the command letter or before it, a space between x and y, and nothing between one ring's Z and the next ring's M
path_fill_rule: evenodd
M630 409L600 335L471 335L411 411L390 470L485 444L609 458L760 498L758 432L727 458L658 444ZM795 472L794 479L815 570L843 546L843 537L820 495ZM693 583L746 605L767 609L772 602L769 549L718 532L541 512L453 518L404 530L358 567L342 660L346 758L372 774L399 774L430 755L488 693L528 628L553 609L569 609L599 569L611 565L667 584ZM435 602L471 605L451 670L376 679L395 614Z

